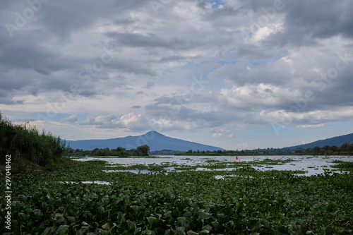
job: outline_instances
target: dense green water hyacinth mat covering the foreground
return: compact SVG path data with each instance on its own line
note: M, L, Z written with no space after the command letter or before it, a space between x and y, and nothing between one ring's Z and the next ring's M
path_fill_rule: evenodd
M106 162L67 159L13 175L11 228L13 234L352 234L352 168L337 167L351 171L106 173ZM97 180L111 185L77 183ZM4 185L1 177L1 192ZM0 224L5 203L1 197Z

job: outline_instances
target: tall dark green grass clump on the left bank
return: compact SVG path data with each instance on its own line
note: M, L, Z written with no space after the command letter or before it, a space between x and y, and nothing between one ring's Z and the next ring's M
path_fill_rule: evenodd
M15 167L25 167L26 162L44 166L58 162L66 150L66 142L52 133L40 133L29 123L14 124L3 119L0 113L0 164L11 155Z

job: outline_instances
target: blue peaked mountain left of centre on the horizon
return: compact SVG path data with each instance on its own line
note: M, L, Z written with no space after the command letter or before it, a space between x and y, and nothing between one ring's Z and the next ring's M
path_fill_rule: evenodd
M150 146L150 151L158 150L176 150L176 151L188 151L188 150L223 150L221 147L215 147L210 145L203 145L200 143L194 143L186 140L180 140L177 138L170 138L157 131L150 131L143 135L138 136L126 136L124 138L113 138L107 140L66 140L66 143L73 149L83 150L94 150L95 148L106 148L109 149L116 147L124 147L126 150L131 150L140 145Z

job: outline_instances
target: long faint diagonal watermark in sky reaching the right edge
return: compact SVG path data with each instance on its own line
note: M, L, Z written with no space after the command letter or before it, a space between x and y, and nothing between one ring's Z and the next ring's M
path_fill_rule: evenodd
M308 107L309 102L316 100L315 92L323 92L328 85L337 79L340 72L344 71L351 62L353 62L353 54L345 52L345 54L339 54L338 59L335 62L335 66L328 68L326 73L321 73L320 76L314 79L316 85L316 90L306 90L304 95L293 100L294 104L289 108L288 112L282 114L280 122L273 122L273 131L278 136L280 135L280 130L289 126L294 120L294 114L300 114Z

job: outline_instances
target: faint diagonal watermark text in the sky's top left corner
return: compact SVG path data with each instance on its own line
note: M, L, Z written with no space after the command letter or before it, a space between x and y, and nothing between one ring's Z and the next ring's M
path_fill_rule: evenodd
M10 37L13 37L13 33L25 27L30 20L42 10L43 4L47 4L50 0L28 0L28 7L24 8L23 11L15 12L15 18L13 23L6 23L5 27Z

